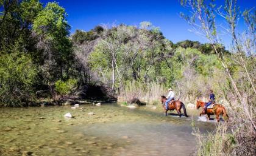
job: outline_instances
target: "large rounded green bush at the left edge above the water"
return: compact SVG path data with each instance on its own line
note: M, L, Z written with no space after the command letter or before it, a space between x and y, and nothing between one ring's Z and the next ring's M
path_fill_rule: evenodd
M29 55L13 52L0 56L0 106L24 106L31 101L36 75Z

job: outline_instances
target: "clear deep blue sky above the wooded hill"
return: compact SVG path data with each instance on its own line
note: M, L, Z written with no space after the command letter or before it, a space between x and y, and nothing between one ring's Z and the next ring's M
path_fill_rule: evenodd
M66 9L68 22L71 25L71 33L76 29L88 31L99 24L127 24L139 25L141 21L150 21L160 27L163 35L172 42L185 39L205 42L204 38L188 31L190 25L180 18L180 12L187 12L180 5L179 0L126 0L126 1L88 1L88 0L55 0ZM47 0L42 0L46 4ZM216 0L218 4L224 0ZM238 0L241 8L254 7L254 0ZM219 18L224 24L224 19ZM241 21L240 21L241 22ZM243 29L243 27L240 27ZM228 36L223 35L224 41L229 42Z

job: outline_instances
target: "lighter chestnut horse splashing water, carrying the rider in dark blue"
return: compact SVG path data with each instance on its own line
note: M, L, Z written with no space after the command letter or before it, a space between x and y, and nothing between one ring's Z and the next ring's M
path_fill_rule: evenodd
M200 113L200 117L202 114L204 113L204 106L205 106L205 102L203 101L196 101L196 109L199 109L199 107L202 107L202 112ZM221 104L215 104L213 106L213 108L207 109L206 110L206 115L208 117L208 120L210 120L210 115L216 115L216 120L219 122L219 115L222 115L222 117L227 118L226 121L229 120L229 115L227 115L226 109L224 106L222 106Z

